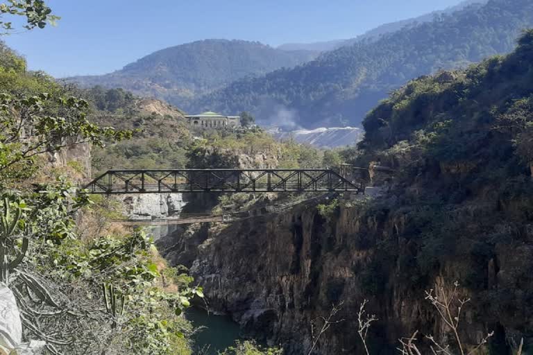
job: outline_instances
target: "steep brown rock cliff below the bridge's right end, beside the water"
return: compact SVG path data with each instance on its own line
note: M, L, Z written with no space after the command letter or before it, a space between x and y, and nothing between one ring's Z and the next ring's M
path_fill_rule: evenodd
M404 237L409 218L387 209L369 214L365 208L341 207L326 219L316 207L299 206L226 227L196 225L161 242L170 250L166 257L171 263L190 267L212 311L230 314L248 336L284 344L287 354L307 354L312 321L340 302L335 319L342 322L319 339L315 354L364 354L357 334L357 311L364 299L370 301L369 313L379 319L369 332L372 354L396 353L398 338L415 330L445 336L446 326L434 315L424 291L451 284L469 261L457 258L428 279L413 281L409 260L419 256ZM389 257L387 250L400 257ZM527 287L518 270L523 260L531 259L532 248L523 245L516 253L501 245L496 250L486 265L487 275L490 270L494 274L487 276L490 289L520 283L513 287ZM530 324L505 312L492 318L478 304L488 287L476 293L459 287L459 295L474 300L462 320L465 343L476 344L495 330L493 340L505 344ZM505 349L497 354L508 354Z

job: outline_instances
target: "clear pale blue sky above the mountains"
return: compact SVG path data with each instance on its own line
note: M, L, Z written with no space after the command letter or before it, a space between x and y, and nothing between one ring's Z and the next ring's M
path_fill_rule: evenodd
M108 73L177 44L226 38L272 46L355 37L460 0L49 0L57 27L5 37L30 69Z

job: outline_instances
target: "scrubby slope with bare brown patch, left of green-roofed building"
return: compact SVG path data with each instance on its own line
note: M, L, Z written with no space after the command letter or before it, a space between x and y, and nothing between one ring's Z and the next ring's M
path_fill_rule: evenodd
M92 149L93 175L112 168L185 167L192 134L176 107L122 89L93 87L83 95L94 103L92 121L133 131L133 139L108 141Z

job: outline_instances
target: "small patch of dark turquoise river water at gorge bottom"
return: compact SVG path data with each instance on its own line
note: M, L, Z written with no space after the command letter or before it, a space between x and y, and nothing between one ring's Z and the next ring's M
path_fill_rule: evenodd
M195 348L209 346L205 354L216 355L240 339L239 324L233 322L228 315L208 314L205 309L188 309L185 317L194 327L205 327L194 336Z

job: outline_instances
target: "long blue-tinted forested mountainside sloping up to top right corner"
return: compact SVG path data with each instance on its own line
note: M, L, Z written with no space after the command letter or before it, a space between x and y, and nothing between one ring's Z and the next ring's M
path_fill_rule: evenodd
M507 53L528 26L533 26L532 1L491 0L380 40L342 47L294 69L239 80L184 108L248 110L259 121L290 119L306 128L357 125L391 89L439 69Z

